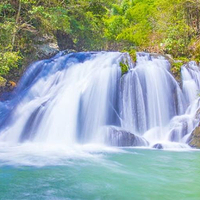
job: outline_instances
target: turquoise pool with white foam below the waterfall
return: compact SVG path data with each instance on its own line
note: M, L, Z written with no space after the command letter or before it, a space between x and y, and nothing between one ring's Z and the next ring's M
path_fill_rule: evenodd
M195 151L95 146L77 147L74 151L30 146L2 151L2 200L199 200L200 197L200 153Z

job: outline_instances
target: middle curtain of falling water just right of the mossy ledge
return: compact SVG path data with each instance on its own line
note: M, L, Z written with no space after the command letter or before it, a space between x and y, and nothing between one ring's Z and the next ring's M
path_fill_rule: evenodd
M137 62L122 78L123 127L144 133L183 113L183 98L166 60L138 54Z

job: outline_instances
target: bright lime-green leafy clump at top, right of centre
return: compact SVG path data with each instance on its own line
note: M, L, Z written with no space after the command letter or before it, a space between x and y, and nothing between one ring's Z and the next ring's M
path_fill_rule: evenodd
M106 20L106 36L129 46L146 46L152 33L153 1L127 1L121 7L114 5L114 12Z

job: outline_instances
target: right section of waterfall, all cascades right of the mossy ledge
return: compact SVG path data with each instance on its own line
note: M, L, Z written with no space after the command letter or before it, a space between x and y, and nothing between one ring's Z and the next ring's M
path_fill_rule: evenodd
M194 62L183 66L182 89L164 57L137 54L137 65L122 77L122 126L142 135L150 146L187 147L198 124L200 71Z

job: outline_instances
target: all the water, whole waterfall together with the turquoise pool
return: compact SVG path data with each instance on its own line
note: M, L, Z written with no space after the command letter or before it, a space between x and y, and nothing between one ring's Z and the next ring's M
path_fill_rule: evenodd
M196 63L177 82L146 53L32 64L0 102L0 199L199 199L199 91Z

